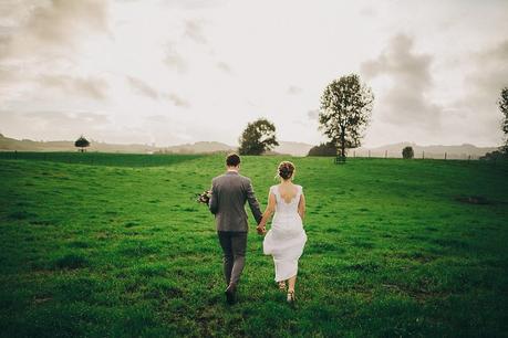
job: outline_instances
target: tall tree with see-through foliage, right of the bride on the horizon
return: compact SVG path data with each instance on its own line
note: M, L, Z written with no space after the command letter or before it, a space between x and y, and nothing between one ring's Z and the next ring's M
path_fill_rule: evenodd
M339 149L342 160L349 148L361 146L363 131L371 119L374 95L351 74L332 81L321 95L320 130Z

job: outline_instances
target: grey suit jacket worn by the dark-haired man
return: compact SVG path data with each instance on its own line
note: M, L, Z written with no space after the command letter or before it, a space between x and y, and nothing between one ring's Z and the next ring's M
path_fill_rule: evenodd
M211 180L211 197L208 207L215 214L217 231L248 231L246 201L259 224L259 209L250 179L235 171L227 171Z

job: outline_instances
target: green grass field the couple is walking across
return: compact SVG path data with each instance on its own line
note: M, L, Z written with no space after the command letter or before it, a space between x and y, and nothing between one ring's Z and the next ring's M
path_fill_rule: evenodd
M309 240L291 308L250 213L239 302L224 299L214 218L193 200L222 156L11 156L3 337L508 336L506 167L293 158ZM282 159L242 159L263 207Z

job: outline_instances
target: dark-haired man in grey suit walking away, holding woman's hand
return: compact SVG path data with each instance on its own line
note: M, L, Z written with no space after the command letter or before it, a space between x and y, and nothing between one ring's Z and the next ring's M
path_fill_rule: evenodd
M246 201L259 224L262 213L259 209L250 179L238 173L240 157L230 154L226 158L226 169L211 180L211 197L209 209L215 214L217 234L224 252L224 276L226 277L226 299L235 303L235 293L246 262L247 213Z

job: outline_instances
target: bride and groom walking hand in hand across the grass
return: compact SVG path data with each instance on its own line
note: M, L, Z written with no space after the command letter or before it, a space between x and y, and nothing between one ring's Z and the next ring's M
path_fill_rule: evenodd
M276 282L286 291L288 282L288 303L293 303L297 282L298 260L307 242L303 230L305 198L302 187L294 184L294 165L282 161L277 170L280 183L270 187L268 207L263 213L259 208L249 178L239 173L240 157L230 154L226 158L226 172L211 180L208 207L215 214L217 234L224 252L224 275L226 278L226 299L236 300L236 291L245 266L247 247L248 202L258 222L258 233L265 235L263 253L273 256ZM266 225L273 215L271 229Z

